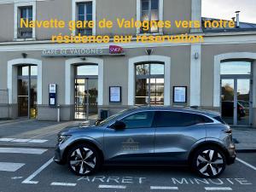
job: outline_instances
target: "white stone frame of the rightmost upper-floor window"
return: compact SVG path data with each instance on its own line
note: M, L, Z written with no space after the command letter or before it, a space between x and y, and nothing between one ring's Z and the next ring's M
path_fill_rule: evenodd
M137 0L137 20L142 20L142 0ZM159 20L164 20L164 0L159 0ZM162 35L163 28L159 28L159 32L146 33L150 35ZM137 27L137 35L145 35L141 33L141 28Z

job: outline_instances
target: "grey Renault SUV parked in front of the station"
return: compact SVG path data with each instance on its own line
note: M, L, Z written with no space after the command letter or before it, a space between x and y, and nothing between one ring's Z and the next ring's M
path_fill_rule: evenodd
M218 177L236 159L232 131L218 113L192 108L131 108L96 125L58 135L55 162L77 175L103 163L186 164L201 177Z

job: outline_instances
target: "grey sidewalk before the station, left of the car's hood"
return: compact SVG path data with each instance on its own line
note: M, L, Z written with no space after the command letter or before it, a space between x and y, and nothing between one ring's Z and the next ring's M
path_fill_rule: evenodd
M35 119L16 119L0 121L0 145L13 147L54 148L57 133L67 125L81 121L38 121Z

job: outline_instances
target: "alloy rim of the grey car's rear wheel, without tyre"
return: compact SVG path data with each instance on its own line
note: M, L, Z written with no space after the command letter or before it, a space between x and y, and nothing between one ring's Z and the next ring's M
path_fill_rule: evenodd
M215 177L224 169L224 158L216 150L204 150L197 156L196 167L203 176Z

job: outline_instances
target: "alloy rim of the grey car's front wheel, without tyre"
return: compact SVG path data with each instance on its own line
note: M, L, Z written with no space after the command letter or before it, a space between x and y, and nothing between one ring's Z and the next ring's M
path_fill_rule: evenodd
M70 155L69 165L73 172L87 175L96 167L96 154L90 148L77 148Z

